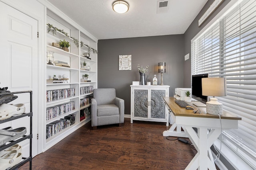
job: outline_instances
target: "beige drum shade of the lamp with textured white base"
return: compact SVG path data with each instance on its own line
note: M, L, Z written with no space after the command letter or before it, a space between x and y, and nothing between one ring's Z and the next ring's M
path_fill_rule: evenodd
M203 96L226 96L227 95L226 78L223 78L223 77L202 78L202 95Z

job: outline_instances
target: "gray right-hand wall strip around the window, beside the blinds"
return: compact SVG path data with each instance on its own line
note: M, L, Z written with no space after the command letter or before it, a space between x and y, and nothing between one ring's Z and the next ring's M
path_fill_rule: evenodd
M201 31L202 28L209 23L209 21L216 16L230 2L230 0L224 0L222 4L209 16L209 18L204 21L204 23L198 27L198 20L204 15L204 13L208 10L208 8L211 6L211 4L214 2L214 0L208 0L206 2L204 8L199 12L198 16L194 19L194 21L190 24L186 32L184 33L184 55L188 54L190 55L190 58L184 62L184 87L190 88L191 87L191 39L196 36L197 33Z

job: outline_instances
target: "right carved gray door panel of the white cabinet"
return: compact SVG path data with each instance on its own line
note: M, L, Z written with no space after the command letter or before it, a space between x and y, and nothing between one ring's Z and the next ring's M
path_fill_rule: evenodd
M151 118L165 119L164 99L166 90L151 90Z

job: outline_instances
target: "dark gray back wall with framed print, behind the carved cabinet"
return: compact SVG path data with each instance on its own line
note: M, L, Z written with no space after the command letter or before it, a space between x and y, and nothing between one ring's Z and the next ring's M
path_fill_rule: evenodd
M115 88L116 95L125 101L125 114L130 114L130 85L139 81L137 65L149 66L146 73L152 84L158 62L166 62L163 83L170 86L169 96L174 89L183 87L184 35L164 35L98 41L98 88ZM119 55L132 55L132 70L118 70Z

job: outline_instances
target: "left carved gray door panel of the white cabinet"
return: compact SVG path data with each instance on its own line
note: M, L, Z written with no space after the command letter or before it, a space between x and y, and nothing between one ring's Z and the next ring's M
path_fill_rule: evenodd
M134 117L148 117L148 90L134 90Z

